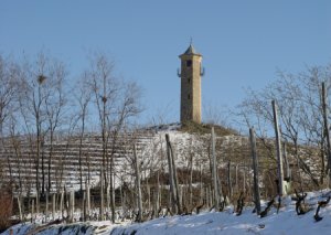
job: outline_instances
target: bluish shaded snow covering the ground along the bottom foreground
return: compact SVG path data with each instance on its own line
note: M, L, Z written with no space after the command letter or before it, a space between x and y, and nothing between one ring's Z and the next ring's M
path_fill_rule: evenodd
M327 193L328 192L328 193ZM275 207L266 217L253 214L252 207L245 207L241 216L233 213L233 207L224 212L204 212L199 215L168 216L148 221L141 224L111 224L110 222L74 223L68 225L53 225L40 228L38 234L111 234L111 235L194 235L194 234L330 234L331 231L331 203L320 210L322 221L316 222L317 202L327 200L329 191L309 193L306 203L312 211L305 215L297 215L295 202L290 196L284 200L284 206L277 214ZM264 206L263 206L264 210ZM43 227L42 227L43 228ZM25 235L36 229L36 225L25 224L11 227L13 234ZM36 231L34 231L36 232ZM2 235L9 235L9 229Z

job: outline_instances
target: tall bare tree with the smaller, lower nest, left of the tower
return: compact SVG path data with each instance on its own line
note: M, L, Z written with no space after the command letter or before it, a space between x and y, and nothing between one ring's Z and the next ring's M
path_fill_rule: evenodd
M140 88L115 76L114 62L105 54L95 54L87 71L103 139L100 185L110 188L111 220L115 222L114 158L120 130L140 111ZM102 186L103 188L103 186ZM100 189L104 192L104 189ZM102 193L103 203L103 193Z

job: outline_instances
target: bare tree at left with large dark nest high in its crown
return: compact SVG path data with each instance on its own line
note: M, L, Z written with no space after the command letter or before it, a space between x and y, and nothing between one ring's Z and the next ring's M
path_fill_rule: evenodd
M54 132L61 125L65 104L63 83L66 71L63 63L43 52L39 53L34 61L25 57L21 71L20 111L25 131L33 141L31 150L35 156L35 191L39 197L40 193L44 196L45 190L51 188L52 149L49 156L49 185L46 185L44 145L47 132L51 133L52 142Z

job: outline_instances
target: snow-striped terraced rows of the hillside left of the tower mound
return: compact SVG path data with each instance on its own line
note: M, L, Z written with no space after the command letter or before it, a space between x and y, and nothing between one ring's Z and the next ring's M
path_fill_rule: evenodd
M51 192L60 191L63 186L68 191L77 190L81 171L83 186L86 181L94 186L99 181L102 164L107 171L110 159L114 159L119 171L119 167L132 154L134 143L140 154L153 136L152 131L138 131L118 135L116 139L109 137L105 161L100 135L84 135L82 141L78 135L57 136L52 143L44 139L39 159L34 137L6 138L2 139L0 149L0 170L3 179L1 183L11 182L23 194L34 194L39 164L40 189L44 183L44 190L51 184Z

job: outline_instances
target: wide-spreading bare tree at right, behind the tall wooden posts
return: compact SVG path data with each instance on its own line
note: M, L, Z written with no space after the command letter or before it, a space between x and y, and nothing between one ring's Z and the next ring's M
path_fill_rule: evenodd
M275 150L267 140L271 133L273 111L270 100L279 107L281 137L290 143L289 156L297 162L298 173L303 171L319 186L318 174L306 159L318 157L320 152L320 182L323 182L325 167L325 137L321 106L321 82L330 81L330 66L307 67L299 74L278 73L278 79L263 90L248 90L247 98L241 105L241 115L248 127L255 126L258 141L265 143L268 156L276 164ZM330 85L328 85L330 88ZM310 146L313 148L303 148ZM316 161L310 161L316 162ZM297 179L300 179L297 178ZM302 182L302 181L300 181ZM300 183L298 182L298 183ZM300 183L301 184L301 183Z

